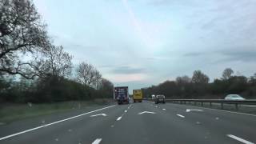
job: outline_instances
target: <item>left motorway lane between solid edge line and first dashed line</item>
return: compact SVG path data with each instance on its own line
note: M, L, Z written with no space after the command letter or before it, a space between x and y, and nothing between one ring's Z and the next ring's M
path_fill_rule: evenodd
M113 106L106 110L86 114L82 117L60 122L26 134L20 134L0 141L0 143L91 143L98 137L98 134L110 128L110 124L127 107L123 105L118 106L118 109L116 109L117 107ZM102 113L107 114L107 116L90 117L90 115Z

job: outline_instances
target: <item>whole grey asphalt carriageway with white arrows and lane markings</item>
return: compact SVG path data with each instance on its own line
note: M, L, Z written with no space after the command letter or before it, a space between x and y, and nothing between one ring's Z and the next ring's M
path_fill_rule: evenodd
M171 103L95 107L40 125L24 130L22 125L14 127L10 124L10 130L5 126L6 134L0 126L0 143L256 142L255 115ZM13 135L10 134L12 130Z

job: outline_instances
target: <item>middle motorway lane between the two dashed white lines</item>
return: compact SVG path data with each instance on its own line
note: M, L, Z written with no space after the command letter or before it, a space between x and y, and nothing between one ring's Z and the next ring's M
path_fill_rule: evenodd
M163 108L166 110L162 110ZM156 114L138 115L142 111ZM117 122L113 130L102 136L102 143L235 143L218 130L218 125L210 129L209 126L204 126L204 120L195 121L176 115L184 115L184 112L186 113L184 108L173 110L171 104L158 107L149 102L134 104L126 118ZM197 124L198 121L202 123Z

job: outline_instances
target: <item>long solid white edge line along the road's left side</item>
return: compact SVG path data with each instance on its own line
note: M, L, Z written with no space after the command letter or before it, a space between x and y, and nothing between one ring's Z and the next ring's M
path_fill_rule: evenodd
M46 126L51 126L51 125L54 125L54 124L57 124L57 123L60 123L60 122L68 121L68 120L70 120L70 119L78 118L78 117L81 117L81 116L86 115L86 114L94 113L94 112L99 111L99 110L108 109L108 108L113 107L113 106L116 106L116 105L106 106L106 107L103 107L102 109L93 110L93 111L90 111L90 112L87 112L87 113L84 113L84 114L76 115L76 116L74 116L74 117L62 119L62 120L59 120L59 121L57 121L57 122L51 122L51 123L48 123L48 124L46 124L46 125L34 127L34 128L32 128L32 129L29 129L29 130L24 130L24 131L15 133L15 134L10 134L10 135L7 135L7 136L5 136L5 137L0 138L0 141L3 140L3 139L6 139L6 138L11 138L11 137L17 136L17 135L19 135L19 134L24 134L24 133L27 133L27 132L30 132L30 131L33 131L33 130L38 130L38 129L41 129L41 128L46 127Z

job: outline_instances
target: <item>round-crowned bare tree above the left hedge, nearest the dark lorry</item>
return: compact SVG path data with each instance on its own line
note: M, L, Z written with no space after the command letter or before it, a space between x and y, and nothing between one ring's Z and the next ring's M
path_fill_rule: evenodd
M102 78L102 74L94 66L86 62L81 62L76 72L78 82L86 86L94 86L93 84Z

